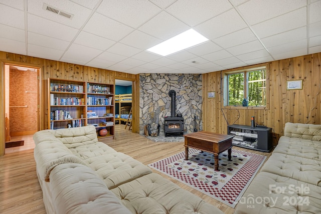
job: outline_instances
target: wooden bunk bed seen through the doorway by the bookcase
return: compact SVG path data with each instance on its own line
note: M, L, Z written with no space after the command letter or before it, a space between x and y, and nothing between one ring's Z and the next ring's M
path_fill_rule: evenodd
M115 114L115 121L118 121L118 124L121 121L126 122L129 116L131 109L132 94L116 94L115 95L115 104L119 105L119 112ZM125 106L123 106L125 104ZM130 116L131 117L131 116Z

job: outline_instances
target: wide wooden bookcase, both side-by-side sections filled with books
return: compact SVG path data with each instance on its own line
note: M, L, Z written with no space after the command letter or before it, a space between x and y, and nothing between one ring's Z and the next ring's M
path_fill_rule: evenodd
M98 138L114 137L114 85L48 79L50 129L94 125Z

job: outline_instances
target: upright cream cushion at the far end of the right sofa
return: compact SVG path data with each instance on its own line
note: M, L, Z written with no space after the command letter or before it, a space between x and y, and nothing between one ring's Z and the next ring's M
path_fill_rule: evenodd
M284 136L321 141L321 125L287 122Z

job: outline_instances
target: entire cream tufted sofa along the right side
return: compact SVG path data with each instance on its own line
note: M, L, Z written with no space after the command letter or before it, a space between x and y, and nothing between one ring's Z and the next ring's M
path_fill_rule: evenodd
M285 124L234 213L321 213L321 125Z

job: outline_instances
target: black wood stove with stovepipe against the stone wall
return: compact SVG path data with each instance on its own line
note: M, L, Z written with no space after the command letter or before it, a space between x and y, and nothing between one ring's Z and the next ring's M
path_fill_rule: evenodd
M169 92L169 96L172 97L172 112L170 117L165 117L165 124L164 124L164 132L165 137L168 135L180 135L183 136L184 131L184 118L182 117L182 114L176 113L176 92L174 90L171 90Z

